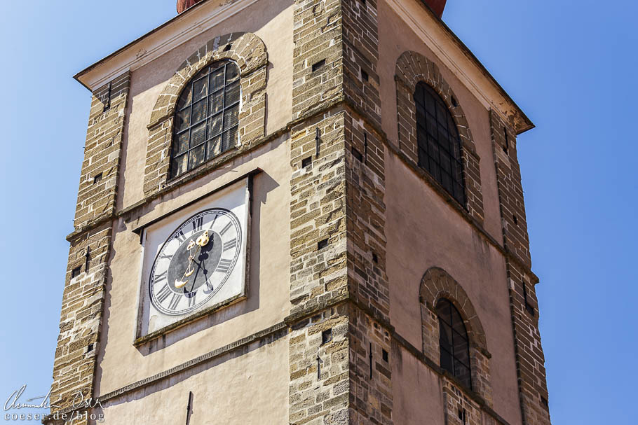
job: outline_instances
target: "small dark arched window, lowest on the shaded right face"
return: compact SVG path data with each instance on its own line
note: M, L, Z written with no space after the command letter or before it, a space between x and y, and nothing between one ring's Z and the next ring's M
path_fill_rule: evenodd
M436 305L439 318L441 368L450 372L468 388L472 388L470 344L466 326L452 302L441 298Z

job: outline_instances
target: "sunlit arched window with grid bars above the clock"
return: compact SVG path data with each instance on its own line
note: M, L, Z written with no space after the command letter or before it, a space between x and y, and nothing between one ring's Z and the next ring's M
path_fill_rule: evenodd
M177 101L170 176L198 167L237 144L239 68L224 60L204 67Z

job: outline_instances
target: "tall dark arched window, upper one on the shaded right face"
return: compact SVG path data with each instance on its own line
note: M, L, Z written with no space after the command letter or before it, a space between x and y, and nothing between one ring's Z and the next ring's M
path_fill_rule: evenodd
M414 90L419 167L425 169L461 205L465 205L461 139L441 97L426 83Z

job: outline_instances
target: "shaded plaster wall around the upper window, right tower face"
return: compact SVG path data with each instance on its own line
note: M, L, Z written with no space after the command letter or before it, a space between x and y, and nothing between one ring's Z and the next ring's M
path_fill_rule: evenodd
M408 0L419 1L419 0ZM484 229L502 243L500 211L498 209L498 188L496 187L496 169L494 168L494 154L491 147L491 134L489 131L489 113L481 102L466 88L452 71L445 67L441 60L423 43L387 4L379 1L379 78L381 87L381 125L388 139L394 146L398 146L397 127L397 95L395 85L395 67L398 58L407 50L421 53L438 65L442 76L463 106L466 118L470 125L470 131L476 144L476 150L480 157L481 189L484 205ZM428 22L426 11L417 8L420 15L414 18L419 22ZM444 46L444 49L456 49L452 43Z

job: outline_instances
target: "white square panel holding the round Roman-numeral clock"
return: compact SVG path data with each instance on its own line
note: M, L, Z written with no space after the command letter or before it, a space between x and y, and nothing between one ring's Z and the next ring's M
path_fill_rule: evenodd
M245 297L250 176L142 230L138 337Z

